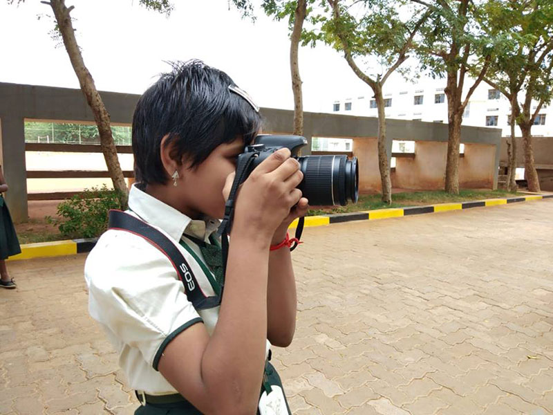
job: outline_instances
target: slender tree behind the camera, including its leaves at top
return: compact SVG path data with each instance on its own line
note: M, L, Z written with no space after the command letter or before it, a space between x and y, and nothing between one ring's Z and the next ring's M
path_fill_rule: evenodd
M290 73L292 75L292 93L294 94L294 130L297 136L303 136L303 94L299 75L299 43L302 38L303 22L308 15L308 1L314 0L263 0L261 7L268 16L281 20L288 17L290 26Z

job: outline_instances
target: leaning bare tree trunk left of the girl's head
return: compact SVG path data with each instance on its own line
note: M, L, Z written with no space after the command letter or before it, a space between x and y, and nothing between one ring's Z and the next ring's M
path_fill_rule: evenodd
M59 32L62 34L64 40L64 46L71 60L73 70L79 79L82 93L88 102L88 106L91 107L94 114L94 120L98 127L98 133L100 133L100 148L104 154L106 160L106 166L108 168L109 176L113 182L113 187L121 194L121 205L126 207L126 201L128 196L128 190L126 187L125 179L119 159L117 156L117 149L113 142L113 136L111 133L111 125L109 113L104 106L104 102L100 97L100 94L96 90L93 77L88 69L84 65L82 59L81 50L77 45L77 39L75 39L75 30L71 22L70 13L73 10L73 6L67 8L64 0L50 0L50 7L52 8Z

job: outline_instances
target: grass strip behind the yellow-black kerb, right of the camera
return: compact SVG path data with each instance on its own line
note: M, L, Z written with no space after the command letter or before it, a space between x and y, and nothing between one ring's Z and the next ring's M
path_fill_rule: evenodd
M516 196L517 193L507 190L460 190L459 194L449 194L443 190L427 192L402 192L392 195L392 204L382 202L380 194L359 195L359 201L346 206L324 206L311 209L308 215L359 212L362 210L375 210L386 208L405 208L407 206L434 205L436 203L458 203L465 201L478 201L482 199L496 199Z

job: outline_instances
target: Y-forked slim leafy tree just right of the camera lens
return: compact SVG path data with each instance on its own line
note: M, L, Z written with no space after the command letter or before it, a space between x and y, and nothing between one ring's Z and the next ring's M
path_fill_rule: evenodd
M388 77L409 58L414 38L429 12L410 10L409 19L400 17L401 0L353 1L348 6L343 1L328 0L331 17L320 17L319 38L344 53L350 68L359 79L368 84L375 94L378 109L378 167L382 182L382 201L391 203L391 178L386 152L386 115L382 88ZM355 15L360 15L358 19ZM376 58L384 70L369 75L363 71L356 58Z

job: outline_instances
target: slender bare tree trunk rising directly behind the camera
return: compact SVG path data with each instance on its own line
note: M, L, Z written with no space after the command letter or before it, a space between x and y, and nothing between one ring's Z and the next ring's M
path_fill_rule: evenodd
M306 19L307 2L298 0L294 12L294 29L290 40L290 72L292 73L292 92L294 93L294 134L303 136L303 99L301 95L301 77L299 76L298 51L303 21Z

